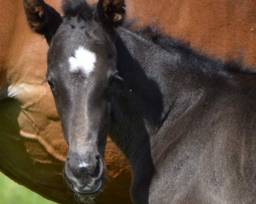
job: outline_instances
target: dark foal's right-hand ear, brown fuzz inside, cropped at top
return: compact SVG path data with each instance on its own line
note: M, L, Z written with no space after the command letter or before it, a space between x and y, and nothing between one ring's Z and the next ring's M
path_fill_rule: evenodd
M106 28L119 26L125 17L125 0L99 0L98 15Z

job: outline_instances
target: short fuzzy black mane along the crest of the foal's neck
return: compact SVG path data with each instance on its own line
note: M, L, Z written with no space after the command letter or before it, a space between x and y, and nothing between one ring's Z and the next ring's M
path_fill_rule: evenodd
M193 48L189 42L183 42L176 38L163 34L160 30L154 28L154 26L148 26L145 28L138 28L134 26L134 22L125 23L123 27L133 31L145 40L148 40L155 45L160 46L168 52L176 52L182 54L180 57L180 66L185 68L205 68L207 72L221 71L229 72L233 74L256 74L255 68L252 66L244 66L243 59L230 59L227 62L223 62L219 59L212 59L207 57L206 54L198 49ZM196 71L196 70L194 70Z

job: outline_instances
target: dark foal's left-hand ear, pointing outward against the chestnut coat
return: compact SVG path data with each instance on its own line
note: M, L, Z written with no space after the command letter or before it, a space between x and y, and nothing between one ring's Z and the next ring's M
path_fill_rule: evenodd
M62 22L61 15L44 0L24 0L24 8L29 26L36 33L44 35L50 44Z

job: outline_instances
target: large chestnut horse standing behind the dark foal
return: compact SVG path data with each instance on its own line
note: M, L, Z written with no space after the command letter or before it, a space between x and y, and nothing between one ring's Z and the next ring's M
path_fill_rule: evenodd
M55 0L49 3L58 9L59 2L60 0ZM8 85L19 84L23 80L34 89L31 95L20 89L20 93L24 94L15 96L16 99L0 101L0 169L10 178L46 198L72 203L73 196L66 193L67 189L59 175L67 154L67 144L62 138L61 125L49 87L40 86L46 73L47 44L26 26L22 0L6 0L0 5L0 93ZM254 0L247 0L246 3L234 0L160 0L157 5L154 0L127 2L128 15L136 18L140 26L152 25L153 22L156 28L189 41L210 56L222 59L229 59L233 55L244 57L249 65L256 65L256 44L251 43L256 41L255 10ZM24 45L21 39L26 40L27 44ZM26 50L30 56L25 54ZM23 57L27 61L22 61ZM43 96L47 99L47 108L45 102L36 100ZM33 106L29 109L31 104ZM49 127L49 121L53 118L56 120ZM35 139L32 135L35 135L34 127L37 124L41 124L44 132L40 131ZM28 134L24 134L26 132L33 134L28 137ZM54 135L54 139L49 137L51 135ZM122 167L122 162L118 163L118 159L114 161L118 164L119 172L130 178L127 166ZM109 171L113 170L109 166ZM116 173L116 180L122 180L121 174ZM123 195L123 200L128 197L128 190L125 190L129 185L128 180L124 184L126 194Z

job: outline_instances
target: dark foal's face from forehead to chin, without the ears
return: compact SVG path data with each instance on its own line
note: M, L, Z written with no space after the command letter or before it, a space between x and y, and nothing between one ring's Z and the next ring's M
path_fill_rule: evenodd
M49 48L47 80L70 147L66 177L78 193L102 186L109 82L116 73L114 44L99 23L64 19Z

